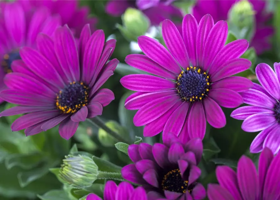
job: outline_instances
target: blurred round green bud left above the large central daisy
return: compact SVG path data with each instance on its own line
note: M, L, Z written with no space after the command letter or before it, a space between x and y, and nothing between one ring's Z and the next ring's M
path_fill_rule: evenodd
M129 41L137 41L137 37L145 35L150 27L150 20L140 10L128 8L122 15L123 26L117 25L123 36Z

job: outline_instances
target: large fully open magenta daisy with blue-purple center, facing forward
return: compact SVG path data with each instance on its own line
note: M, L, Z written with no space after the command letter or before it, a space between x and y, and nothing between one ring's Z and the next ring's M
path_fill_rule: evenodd
M215 128L224 127L220 106L240 106L243 98L239 92L252 87L247 78L231 77L250 68L249 60L239 58L249 43L240 39L225 45L225 21L214 25L208 14L198 24L188 14L182 29L183 37L165 20L162 35L169 51L156 40L141 36L138 44L146 55L126 57L127 64L156 75L132 74L120 80L125 88L137 91L126 99L125 108L139 110L133 121L135 126L145 125L145 137L163 131L163 137L174 133L185 142L203 138L206 120Z

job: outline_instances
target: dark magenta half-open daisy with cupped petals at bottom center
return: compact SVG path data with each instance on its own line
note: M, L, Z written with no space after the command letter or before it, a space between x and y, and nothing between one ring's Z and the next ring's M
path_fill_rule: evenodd
M201 170L197 167L202 156L200 138L182 143L169 133L163 144L132 144L128 155L134 164L124 166L124 179L142 185L153 199L203 199L206 191L197 183Z

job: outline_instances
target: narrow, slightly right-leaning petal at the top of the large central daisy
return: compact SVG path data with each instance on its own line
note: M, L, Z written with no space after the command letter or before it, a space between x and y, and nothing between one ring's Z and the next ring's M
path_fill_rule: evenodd
M196 58L198 66L202 65L205 42L213 26L214 20L209 14L204 15L198 24L198 30L196 35Z

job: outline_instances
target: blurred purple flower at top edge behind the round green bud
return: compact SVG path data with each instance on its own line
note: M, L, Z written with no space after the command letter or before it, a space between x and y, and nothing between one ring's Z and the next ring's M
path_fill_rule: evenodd
M129 8L138 8L150 20L152 25L159 25L165 19L182 18L182 12L171 5L175 0L110 0L106 12L112 16L121 16Z

